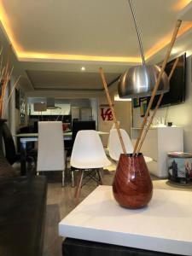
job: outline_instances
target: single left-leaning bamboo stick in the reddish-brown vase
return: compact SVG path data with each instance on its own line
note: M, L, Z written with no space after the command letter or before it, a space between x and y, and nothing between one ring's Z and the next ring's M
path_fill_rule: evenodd
M108 93L108 84L106 82L106 79L105 79L105 75L103 73L103 70L102 70L102 67L99 68L99 72L101 74L101 77L102 77L102 84L103 84L103 87L105 89L105 92L106 92L106 96L108 98L108 105L109 107L111 108L112 110L112 113L113 113L113 119L114 119L114 125L115 125L115 128L117 129L117 132L118 132L118 136L119 136L119 141L120 141L120 144L121 144L121 147L123 149L123 153L126 154L126 149L125 149L125 144L124 144L124 141L123 141L123 138L121 136L121 133L120 133L120 130L119 130L119 124L118 124L118 121L116 119L116 115L114 113L114 109L113 109L113 104L112 104L112 101L111 101L111 97Z

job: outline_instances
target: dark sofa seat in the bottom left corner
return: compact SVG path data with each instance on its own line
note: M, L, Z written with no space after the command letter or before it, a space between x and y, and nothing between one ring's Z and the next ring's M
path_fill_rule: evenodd
M43 252L45 177L0 179L0 255L40 256Z

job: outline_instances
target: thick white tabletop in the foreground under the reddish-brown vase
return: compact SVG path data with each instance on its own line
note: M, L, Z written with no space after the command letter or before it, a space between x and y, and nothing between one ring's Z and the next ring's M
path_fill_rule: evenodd
M192 192L154 189L148 207L129 210L97 187L59 224L60 236L192 255Z

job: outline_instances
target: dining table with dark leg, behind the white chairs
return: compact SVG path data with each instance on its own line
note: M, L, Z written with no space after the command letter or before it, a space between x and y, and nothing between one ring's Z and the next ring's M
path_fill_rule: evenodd
M100 136L108 135L107 131L98 131ZM14 137L20 139L20 173L26 175L26 144L38 142L38 132L36 133L18 133ZM72 131L63 131L63 140L72 140Z

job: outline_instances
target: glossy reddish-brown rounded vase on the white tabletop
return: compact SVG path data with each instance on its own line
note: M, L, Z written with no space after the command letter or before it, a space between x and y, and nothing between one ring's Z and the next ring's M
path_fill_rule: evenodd
M146 207L153 195L153 184L143 154L120 154L113 179L113 196L121 207Z

